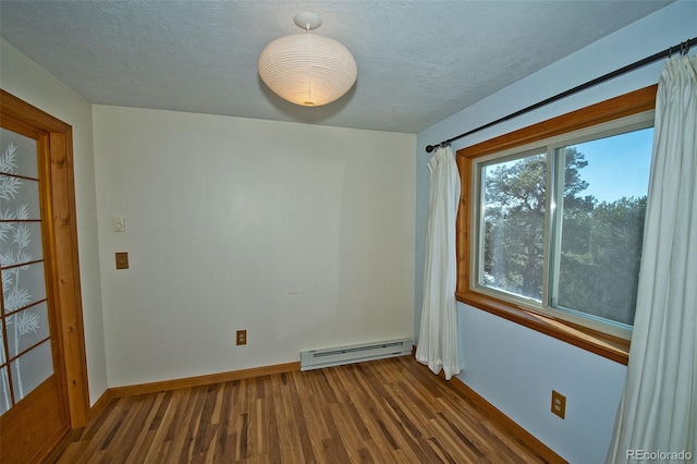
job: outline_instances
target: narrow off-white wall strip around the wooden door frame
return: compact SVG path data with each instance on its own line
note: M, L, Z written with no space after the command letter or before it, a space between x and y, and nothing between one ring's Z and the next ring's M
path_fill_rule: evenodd
M4 90L73 126L85 345L89 398L94 403L107 389L107 367L97 243L91 105L2 39L0 60L0 86Z

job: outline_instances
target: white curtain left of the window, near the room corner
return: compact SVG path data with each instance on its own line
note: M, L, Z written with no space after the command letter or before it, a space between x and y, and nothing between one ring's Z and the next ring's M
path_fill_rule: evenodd
M453 150L440 147L428 162L431 173L424 305L416 359L445 378L460 373L455 284L455 218L460 203L460 173Z

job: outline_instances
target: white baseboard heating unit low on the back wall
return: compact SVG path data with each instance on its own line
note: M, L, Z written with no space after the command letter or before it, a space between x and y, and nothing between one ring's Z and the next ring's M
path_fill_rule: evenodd
M363 361L411 355L412 343L412 339L400 339L325 350L302 351L301 370L320 369L322 367L341 366L344 364L360 363Z

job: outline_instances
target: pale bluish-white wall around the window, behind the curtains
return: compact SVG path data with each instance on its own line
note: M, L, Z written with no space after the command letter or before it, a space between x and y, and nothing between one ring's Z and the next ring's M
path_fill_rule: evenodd
M417 135L415 333L423 302L429 144L453 137L697 36L697 2L678 1L522 80ZM693 51L694 52L694 51ZM457 150L658 82L662 62L453 143ZM466 78L466 76L464 76ZM458 304L461 380L572 463L604 462L626 368ZM565 394L566 419L549 412Z

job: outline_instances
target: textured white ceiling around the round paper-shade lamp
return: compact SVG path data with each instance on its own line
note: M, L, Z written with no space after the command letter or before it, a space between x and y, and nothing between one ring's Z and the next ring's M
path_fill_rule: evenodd
M0 35L94 103L417 133L669 3L2 0ZM299 11L358 65L325 107L289 103L257 73Z

